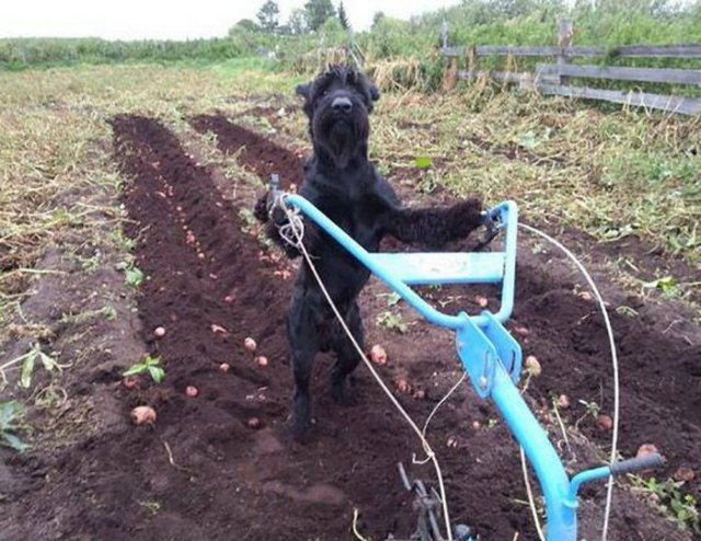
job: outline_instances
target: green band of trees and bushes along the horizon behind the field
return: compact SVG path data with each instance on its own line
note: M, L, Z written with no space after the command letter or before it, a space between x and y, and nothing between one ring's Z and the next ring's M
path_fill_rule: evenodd
M354 33L343 1L309 0L279 18L275 0L256 20L237 22L228 36L187 42L100 38L0 39L0 69L124 61L216 62L264 56L295 69L317 68L329 50L356 45L368 62L413 58L432 71L439 59L444 21L452 45L554 44L558 22L575 21L575 44L619 46L701 42L701 0L463 0L410 21L377 12L372 27ZM314 51L315 55L310 55Z

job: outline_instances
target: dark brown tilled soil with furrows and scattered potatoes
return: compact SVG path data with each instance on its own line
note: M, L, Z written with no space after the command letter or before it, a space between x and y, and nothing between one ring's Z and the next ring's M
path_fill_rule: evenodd
M273 124L277 118L272 108L252 114ZM216 135L222 160L234 157L258 180L232 181L200 165L192 141L185 148L159 118L110 119L114 160L126 180L125 232L136 240L135 264L143 281L133 306L113 266L87 275L60 252L42 262L64 265L66 274L43 279L25 311L54 321L65 352L91 344L95 354L65 376L71 400L51 419L60 430L25 454L0 450L0 540L355 539L354 509L365 538L407 539L416 514L397 463L432 484L433 470L411 464L421 446L364 367L356 377L359 403L341 407L327 392L331 362L320 358L312 391L317 436L300 445L287 434L291 375L284 315L296 263L260 242L250 209L271 173L279 173L286 188L299 185L303 156L297 149L303 145L285 146L235 117L187 120L197 133ZM394 179L414 173L397 171ZM398 187L412 203L449 197L418 196L403 183ZM625 253L641 268L656 266L659 256L645 245L601 246L575 230L561 239L587 254L610 304L622 369L622 456L654 444L668 460L654 475L670 479L682 467L691 469L696 477L682 487L698 500L701 330L681 306L644 302L607 279L601 263L612 254ZM387 249L404 250L393 242ZM601 315L581 295L584 280L550 246L524 235L517 266L516 308L507 326L527 329L519 334L524 353L542 366L542 375L529 381L529 401L572 471L601 463L611 433L597 423L593 405L612 414ZM61 338L59 307L71 292L105 289L115 292L118 318ZM423 424L462 373L453 341L402 303L391 306L386 293L372 281L363 295L367 343L384 346L389 362L380 371L389 382L406 379L411 391L398 394ZM479 310L476 296L486 297L490 307L497 303L497 291L489 287L422 288L422 293L451 313ZM406 325L404 332L378 323L388 312ZM165 334L157 337L160 326ZM255 354L243 347L249 336L257 342ZM125 359L146 353L162 359L164 382L145 377L136 389L126 389L120 373L130 362ZM267 366L256 364L256 355L266 356ZM220 370L222 362L228 372ZM187 396L187 385L199 394ZM570 449L552 405L561 394L570 402L559 410ZM129 411L142 404L157 410L158 421L135 427ZM492 405L461 385L436 415L428 438L446 476L455 522L476 527L483 539L536 539L518 448ZM650 491L624 484L614 493L609 539L693 539L645 500ZM587 486L582 496L581 537L597 539L605 487ZM669 505L664 496L657 502Z

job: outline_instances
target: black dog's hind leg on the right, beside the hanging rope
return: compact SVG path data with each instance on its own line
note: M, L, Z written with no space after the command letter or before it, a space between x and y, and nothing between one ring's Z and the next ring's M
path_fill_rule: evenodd
M348 309L345 321L350 334L360 346L360 350L364 350L365 330L357 302L354 301ZM336 354L336 364L331 372L331 394L340 404L354 404L355 395L348 389L348 376L360 362L360 355L340 325L333 337L332 347Z

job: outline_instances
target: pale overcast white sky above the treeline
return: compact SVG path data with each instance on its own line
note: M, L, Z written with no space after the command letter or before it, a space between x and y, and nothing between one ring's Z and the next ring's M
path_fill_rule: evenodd
M241 19L253 19L265 0L3 0L2 37L103 37L194 39L222 37ZM307 0L278 0L280 22ZM338 0L332 0L337 7ZM367 30L372 15L409 19L459 0L345 0L350 25Z

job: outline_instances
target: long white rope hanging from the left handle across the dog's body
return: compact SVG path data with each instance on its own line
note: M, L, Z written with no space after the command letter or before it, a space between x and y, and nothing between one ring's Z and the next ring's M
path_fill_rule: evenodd
M387 387L384 381L382 381L382 378L380 377L380 375L377 372L377 370L375 370L375 367L372 366L372 362L370 362L370 360L367 358L367 356L363 352L363 348L359 346L359 344L355 339L355 336L353 336L353 333L350 332L350 330L346 325L345 320L343 319L343 316L338 312L338 309L336 308L335 303L331 299L331 296L329 295L329 291L326 290L323 281L321 280L321 277L319 276L319 273L317 272L317 267L314 267L314 264L311 261L311 256L307 252L307 248L302 243L303 229L302 230L296 229L296 227L301 222L301 218L299 220L295 220L295 212L292 212L287 206L285 206L284 202L280 202L280 207L285 210L285 212L287 214L288 218L290 218L289 225L291 226L291 231L296 237L296 242L294 243L294 245L297 246L299 249L299 251L302 253L302 255L304 256L304 260L307 261L307 264L309 265L310 270L312 272L314 278L317 279L317 283L319 284L319 287L321 288L321 291L324 293L324 297L326 298L326 301L329 302L329 306L331 307L331 309L333 310L333 313L335 314L336 319L341 323L341 326L343 327L345 333L348 335L348 339L350 341L350 343L355 347L356 352L358 353L358 355L360 356L360 358L363 359L365 365L370 370L370 373L376 379L376 381L378 382L380 388L382 388L382 390L388 395L388 398L390 399L392 404L394 404L394 406L399 410L400 414L404 417L406 423L416 433L416 435L418 436L418 439L421 440L421 444L422 444L422 447L424 449L424 452L430 458L432 462L434 463L434 469L436 470L436 476L438 477L438 487L439 487L440 499L441 499L441 504L443 504L443 513L444 513L444 519L445 519L445 522L446 522L446 530L447 530L447 534L448 534L448 541L452 541L452 531L450 529L450 517L448 515L448 502L447 502L447 498L446 498L446 487L445 487L445 484L444 484L444 481L443 481L443 474L440 472L440 464L438 463L438 459L436 458L436 453L434 452L434 450L432 449L430 445L428 444L428 441L424 437L423 433L420 430L418 426L416 426L416 423L414 423L414 421L409 416L409 414L402 407L402 405L399 403L399 401L397 400L394 394L392 394L392 391L390 391L390 389ZM298 218L299 218L299 216L298 216Z

